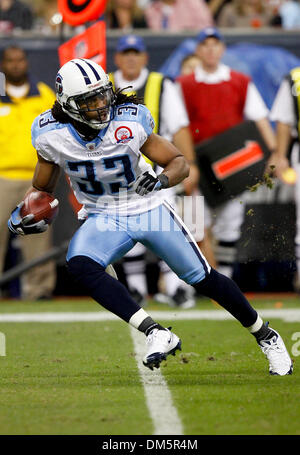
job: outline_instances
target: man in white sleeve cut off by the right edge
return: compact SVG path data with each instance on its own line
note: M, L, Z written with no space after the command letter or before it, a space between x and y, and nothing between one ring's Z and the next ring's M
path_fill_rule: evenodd
M297 273L294 287L300 292L300 67L282 80L271 109L270 119L276 122L277 149L270 163L283 182L295 186Z

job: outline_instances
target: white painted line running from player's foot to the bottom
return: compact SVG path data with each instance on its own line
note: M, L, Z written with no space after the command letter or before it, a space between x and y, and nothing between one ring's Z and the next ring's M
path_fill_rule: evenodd
M154 425L155 435L183 435L181 420L161 370L146 368L142 358L146 352L145 335L130 327L137 366L144 386L146 404Z

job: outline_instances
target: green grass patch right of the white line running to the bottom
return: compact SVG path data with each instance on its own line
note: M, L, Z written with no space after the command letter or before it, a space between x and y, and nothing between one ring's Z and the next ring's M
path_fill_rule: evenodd
M299 325L273 325L290 347ZM292 376L268 375L256 342L235 321L185 321L178 333L181 361L164 371L188 434L300 434L297 368Z

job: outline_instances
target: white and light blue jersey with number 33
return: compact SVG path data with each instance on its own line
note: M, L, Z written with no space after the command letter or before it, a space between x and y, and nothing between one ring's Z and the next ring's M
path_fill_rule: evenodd
M46 111L33 123L32 143L42 158L65 171L88 213L129 215L161 203L157 193L141 197L133 187L140 174L155 175L140 152L153 127L145 106L123 104L117 106L109 126L86 142L72 124L56 122L51 111Z

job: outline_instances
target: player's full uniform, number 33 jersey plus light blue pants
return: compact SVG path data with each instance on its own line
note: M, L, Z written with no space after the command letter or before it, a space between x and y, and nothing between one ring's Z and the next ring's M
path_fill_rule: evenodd
M37 117L32 142L47 161L69 176L87 220L71 240L67 260L87 256L102 266L114 263L140 242L189 284L205 278L210 266L187 227L158 192L139 196L134 183L148 171L140 149L152 134L153 119L143 105L124 104L91 142L51 112ZM154 174L155 175L155 174Z

